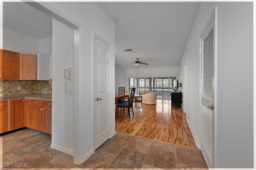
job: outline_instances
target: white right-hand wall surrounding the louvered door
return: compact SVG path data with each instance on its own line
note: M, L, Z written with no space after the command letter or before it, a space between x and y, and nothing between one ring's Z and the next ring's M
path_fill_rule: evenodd
M180 62L187 59L187 120L199 135L199 36L217 12L215 168L253 168L253 4L202 2ZM240 80L244 81L241 85Z

